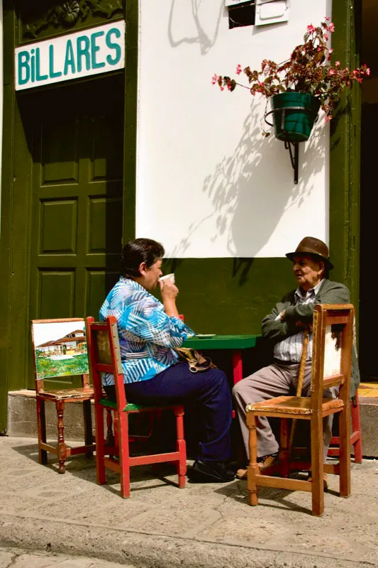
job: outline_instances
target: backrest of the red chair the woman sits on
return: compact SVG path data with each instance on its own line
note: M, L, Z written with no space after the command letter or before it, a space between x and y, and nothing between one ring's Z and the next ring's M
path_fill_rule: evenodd
M87 338L94 400L98 402L103 398L102 373L110 373L114 377L117 408L121 412L127 401L116 317L110 315L105 322L95 322L93 317L87 317Z

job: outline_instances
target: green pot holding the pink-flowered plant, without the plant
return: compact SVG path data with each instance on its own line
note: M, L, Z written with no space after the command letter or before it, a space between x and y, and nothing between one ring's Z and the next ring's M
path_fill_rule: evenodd
M290 142L308 140L320 106L319 100L312 94L275 94L272 97L272 114L276 138Z

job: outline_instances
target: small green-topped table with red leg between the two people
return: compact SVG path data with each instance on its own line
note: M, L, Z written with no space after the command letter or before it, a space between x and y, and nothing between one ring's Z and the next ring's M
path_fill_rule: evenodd
M213 337L191 337L182 344L192 349L231 349L233 351L233 383L243 378L242 349L255 347L256 340L261 337L255 335L214 335Z

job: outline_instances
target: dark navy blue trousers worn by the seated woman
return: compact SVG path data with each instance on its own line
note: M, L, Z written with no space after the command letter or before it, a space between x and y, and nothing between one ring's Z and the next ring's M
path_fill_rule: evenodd
M114 387L105 387L113 398ZM125 384L129 403L190 405L199 421L201 461L223 461L230 457L232 400L225 373L210 368L191 373L187 363L179 362L148 381Z

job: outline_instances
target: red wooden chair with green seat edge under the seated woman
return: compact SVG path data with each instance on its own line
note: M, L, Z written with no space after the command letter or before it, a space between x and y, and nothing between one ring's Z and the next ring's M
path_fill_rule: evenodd
M146 464L169 462L176 465L179 488L185 486L187 473L187 450L184 440L184 408L182 405L154 406L127 403L123 383L121 352L118 341L116 318L109 316L106 322L94 322L87 318L87 340L89 348L89 366L94 386L94 412L96 417L96 469L97 482L106 483L106 468L112 469L121 477L121 496L130 497L130 467ZM101 373L114 376L116 402L103 397ZM170 408L176 416L177 441L176 451L165 454L150 454L130 457L128 436L128 415L133 413L151 413L155 410ZM104 410L113 413L117 428L114 444L106 444L104 435ZM118 457L116 459L115 457Z

